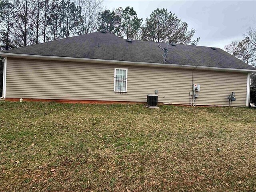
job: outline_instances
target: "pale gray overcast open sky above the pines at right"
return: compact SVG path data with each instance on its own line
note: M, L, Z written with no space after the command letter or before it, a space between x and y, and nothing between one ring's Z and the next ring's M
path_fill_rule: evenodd
M143 21L156 8L167 8L196 29L194 37L200 37L200 46L223 48L232 40L242 40L247 28L256 27L256 0L105 0L104 6L110 10L133 7Z

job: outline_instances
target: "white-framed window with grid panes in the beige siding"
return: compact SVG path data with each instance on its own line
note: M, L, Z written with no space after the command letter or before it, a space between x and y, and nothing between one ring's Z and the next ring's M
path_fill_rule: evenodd
M127 92L127 73L128 70L124 68L115 68L114 72L114 92Z

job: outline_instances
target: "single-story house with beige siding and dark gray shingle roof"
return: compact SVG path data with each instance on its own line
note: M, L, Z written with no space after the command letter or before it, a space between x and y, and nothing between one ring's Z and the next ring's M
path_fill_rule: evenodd
M6 100L81 102L158 102L248 106L252 66L220 48L126 40L94 32L1 52L5 58Z

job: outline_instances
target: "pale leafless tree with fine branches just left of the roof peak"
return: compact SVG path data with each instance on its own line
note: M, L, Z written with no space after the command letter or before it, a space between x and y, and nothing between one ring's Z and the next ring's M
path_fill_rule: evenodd
M102 12L103 0L76 0L81 7L82 22L78 28L80 34L92 33L97 30L99 13Z

